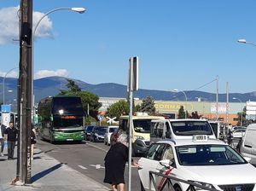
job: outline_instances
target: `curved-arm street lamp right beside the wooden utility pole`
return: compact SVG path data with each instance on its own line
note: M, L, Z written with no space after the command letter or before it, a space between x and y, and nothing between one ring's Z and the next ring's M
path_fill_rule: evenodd
M32 32L32 112L34 112L34 41L35 41L35 34L36 31L38 29L38 26L40 24L40 22L44 19L45 16L47 16L48 14L54 13L56 11L59 10L70 10L79 14L83 14L85 12L84 8L57 8L57 9L52 9L49 12L47 12L46 14L44 14L37 22L37 24L35 25L33 32Z

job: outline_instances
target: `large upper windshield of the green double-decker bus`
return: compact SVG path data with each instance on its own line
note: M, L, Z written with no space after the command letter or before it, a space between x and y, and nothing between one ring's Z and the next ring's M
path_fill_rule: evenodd
M54 97L52 113L54 115L77 115L83 116L84 111L79 97Z

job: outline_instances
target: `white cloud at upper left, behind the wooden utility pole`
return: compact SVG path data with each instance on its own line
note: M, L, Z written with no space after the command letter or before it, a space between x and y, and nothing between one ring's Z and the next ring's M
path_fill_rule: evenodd
M9 7L0 9L0 45L13 43L13 39L19 39L19 18L20 7ZM33 26L44 15L44 13L33 12ZM52 38L52 21L48 16L40 22L36 37Z

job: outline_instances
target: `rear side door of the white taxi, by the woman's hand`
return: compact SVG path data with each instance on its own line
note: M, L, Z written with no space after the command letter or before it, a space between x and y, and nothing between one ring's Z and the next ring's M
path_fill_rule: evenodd
M138 164L141 166L138 171L139 177L141 179L143 187L146 189L149 188L149 171L160 171L160 169L158 169L159 161L161 159L165 146L166 145L163 143L153 143L148 149L146 157L142 157L138 161ZM151 188L154 188L153 184L151 185Z

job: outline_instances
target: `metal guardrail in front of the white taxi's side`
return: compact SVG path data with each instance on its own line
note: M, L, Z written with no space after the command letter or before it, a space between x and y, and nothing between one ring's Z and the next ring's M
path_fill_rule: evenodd
M156 182L154 180L154 176L164 177L166 179L164 180L164 182L162 182L162 184L160 186L157 186ZM172 181L183 182L183 183L188 184L189 188L187 188L186 191L196 191L195 187L196 188L202 188L202 189L205 189L205 190L210 190L210 191L220 191L216 188L205 187L205 186L203 186L203 185L201 185L201 184L199 184L198 182L195 182L195 181L186 181L186 180L183 180L183 179L180 179L180 178L177 178L177 177L171 177L171 176L168 176L168 175L164 175L164 174L161 174L159 172L149 171L149 190L150 191L152 190L152 184L154 186L154 190L157 190L157 191L162 191L166 187L166 184L168 184L168 188L171 191L175 191L175 188L172 185Z

